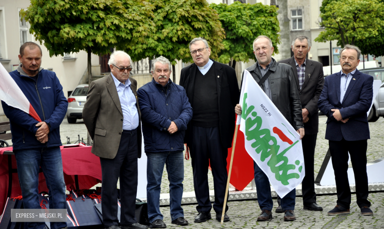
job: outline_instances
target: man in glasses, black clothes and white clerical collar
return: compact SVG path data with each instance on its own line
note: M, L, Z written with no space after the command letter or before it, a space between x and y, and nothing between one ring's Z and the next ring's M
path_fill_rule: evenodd
M208 42L199 37L190 43L193 64L181 70L180 86L186 90L193 108L184 142L191 150L193 185L199 214L195 223L211 219L212 204L209 198L208 165L212 168L215 189L213 208L221 221L226 180L226 157L232 145L235 129L234 108L240 92L236 72L226 64L209 58ZM226 212L228 207L224 209ZM224 222L229 221L224 215Z

